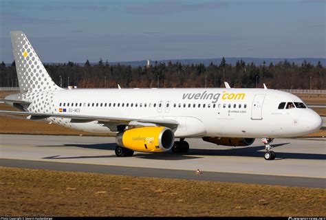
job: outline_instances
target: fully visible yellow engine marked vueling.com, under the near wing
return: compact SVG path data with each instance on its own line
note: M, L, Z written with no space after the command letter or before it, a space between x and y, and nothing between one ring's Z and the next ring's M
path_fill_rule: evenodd
M118 133L116 143L133 151L169 151L174 144L174 133L164 126L143 126Z

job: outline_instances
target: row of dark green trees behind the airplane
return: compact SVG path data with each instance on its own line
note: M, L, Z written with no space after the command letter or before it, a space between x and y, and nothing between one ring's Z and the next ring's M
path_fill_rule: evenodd
M306 61L301 65L286 60L254 65L241 60L236 65L222 58L219 65L202 63L157 63L150 67L109 65L100 60L96 65L86 61L85 65L68 62L45 65L47 72L57 85L77 85L80 88L98 87L262 87L263 83L274 89L326 89L326 68L319 62L314 66ZM16 87L17 74L14 62L10 66L0 65L0 87Z

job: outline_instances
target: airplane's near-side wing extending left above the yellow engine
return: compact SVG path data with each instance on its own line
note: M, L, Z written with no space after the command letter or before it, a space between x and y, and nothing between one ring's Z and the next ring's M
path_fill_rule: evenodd
M108 124L129 124L129 122L151 123L160 126L166 126L170 129L175 129L179 123L175 120L160 120L160 119L146 119L146 118L114 118L104 116L92 116L92 115L69 115L65 113L34 113L27 111L0 111L0 114L10 115L28 115L30 120L41 120L45 118L70 118L71 122L83 123L98 121L99 123Z

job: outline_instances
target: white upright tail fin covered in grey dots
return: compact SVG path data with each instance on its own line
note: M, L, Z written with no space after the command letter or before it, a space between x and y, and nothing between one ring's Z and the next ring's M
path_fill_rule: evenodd
M10 34L19 90L25 92L61 89L47 73L25 34L23 32L10 32Z

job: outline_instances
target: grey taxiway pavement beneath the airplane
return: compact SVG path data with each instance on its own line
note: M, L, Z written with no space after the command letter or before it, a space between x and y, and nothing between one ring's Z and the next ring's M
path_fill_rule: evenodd
M135 152L116 157L114 137L0 135L0 166L111 173L251 184L326 188L326 139L276 139L276 159L263 159L264 146L217 146L187 139L186 155ZM196 175L195 170L202 170Z

